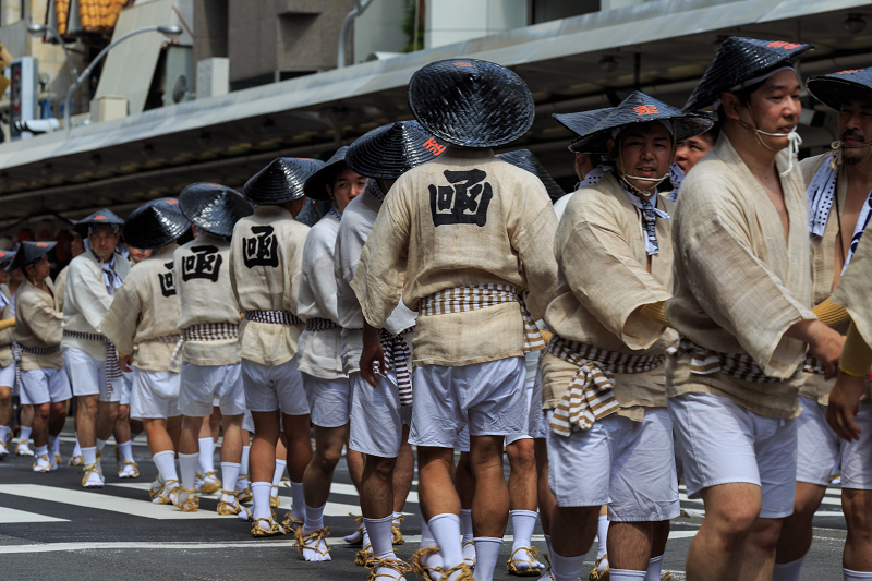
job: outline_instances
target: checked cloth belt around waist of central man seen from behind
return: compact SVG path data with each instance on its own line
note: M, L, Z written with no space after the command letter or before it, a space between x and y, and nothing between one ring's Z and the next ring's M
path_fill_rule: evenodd
M440 290L419 302L417 314L431 316L463 313L504 303L518 303L521 307L524 319L524 351L544 349L545 339L542 338L533 315L526 310L521 289L512 285L470 285Z

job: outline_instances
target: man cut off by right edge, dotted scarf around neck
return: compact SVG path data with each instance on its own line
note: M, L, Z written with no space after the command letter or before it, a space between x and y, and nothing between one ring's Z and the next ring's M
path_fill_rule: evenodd
M843 271L852 263L865 227L872 217L872 69L841 71L813 76L809 90L818 100L838 111L838 136L832 153L800 162L809 184L814 308L821 320L843 335L848 331L847 312L829 301ZM778 540L775 580L799 581L802 561L811 546L812 518L831 474L841 463L841 505L848 523L843 564L845 579L872 578L872 521L861 516L872 503L872 406L869 383L855 421L862 426L859 441L840 440L827 425L829 391L816 360L804 364L806 384L800 390L802 413L797 420L797 488L794 515L785 520ZM862 571L862 573L860 573Z

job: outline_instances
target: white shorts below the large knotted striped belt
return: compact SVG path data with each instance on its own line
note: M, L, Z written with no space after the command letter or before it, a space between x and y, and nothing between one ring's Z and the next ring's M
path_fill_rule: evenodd
M548 413L548 423L553 414ZM569 436L549 429L548 484L557 506L608 505L609 521L678 517L669 412L646 408L641 422L613 414Z

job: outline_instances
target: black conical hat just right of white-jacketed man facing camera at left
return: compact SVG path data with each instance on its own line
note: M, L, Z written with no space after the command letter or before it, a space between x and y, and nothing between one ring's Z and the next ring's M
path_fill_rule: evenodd
M191 228L191 222L179 206L178 198L160 197L133 210L121 228L124 243L145 250L175 242Z

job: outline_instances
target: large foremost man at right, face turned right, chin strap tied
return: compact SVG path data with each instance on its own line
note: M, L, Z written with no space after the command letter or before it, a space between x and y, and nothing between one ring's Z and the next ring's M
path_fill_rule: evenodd
M680 342L666 395L688 496L705 519L689 579L766 579L794 510L806 351L836 372L841 336L811 311L800 85L783 69L811 45L727 38L685 110L720 101L714 149L681 185L673 225Z

